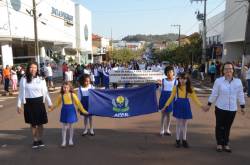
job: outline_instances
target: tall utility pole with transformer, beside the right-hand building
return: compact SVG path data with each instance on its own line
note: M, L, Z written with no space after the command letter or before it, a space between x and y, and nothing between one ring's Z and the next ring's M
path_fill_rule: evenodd
M191 2L204 2L204 13L197 13L197 19L203 22L203 33L202 33L202 56L201 62L206 62L206 49L207 49L207 0L190 0Z

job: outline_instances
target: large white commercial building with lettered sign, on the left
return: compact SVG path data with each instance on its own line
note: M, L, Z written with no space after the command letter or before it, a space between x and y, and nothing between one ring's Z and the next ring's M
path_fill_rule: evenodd
M43 0L37 3L36 8L40 61L49 58L53 52L67 60L67 52L71 52L69 55L76 62L91 62L82 60L88 54L92 55L90 11L71 0ZM36 59L32 1L0 1L0 15L2 65L27 63ZM87 27L86 33L83 27ZM85 37L85 34L88 36Z

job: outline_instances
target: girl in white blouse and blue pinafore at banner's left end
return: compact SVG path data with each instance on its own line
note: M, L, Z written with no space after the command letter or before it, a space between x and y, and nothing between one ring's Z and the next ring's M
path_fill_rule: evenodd
M91 84L90 76L89 75L83 75L79 79L80 87L78 88L78 98L81 100L82 106L88 111L89 107L89 89L94 89L94 86ZM93 128L93 120L91 115L86 115L83 113L80 113L84 118L84 127L83 127L83 133L82 136L85 136L88 134L88 124L89 124L89 133L91 136L94 136L94 128Z

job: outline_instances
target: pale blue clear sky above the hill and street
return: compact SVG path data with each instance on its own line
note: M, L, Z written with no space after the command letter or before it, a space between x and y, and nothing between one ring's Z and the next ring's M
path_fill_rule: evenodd
M190 0L74 0L92 12L92 31L106 38L122 39L135 34L197 32L195 12L203 12L204 4ZM208 18L225 9L226 0L207 0ZM112 30L111 30L112 29Z

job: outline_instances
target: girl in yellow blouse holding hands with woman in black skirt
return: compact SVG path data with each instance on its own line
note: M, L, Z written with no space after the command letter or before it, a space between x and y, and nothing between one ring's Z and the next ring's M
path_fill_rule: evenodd
M61 87L61 95L57 97L57 101L54 107L50 109L53 111L56 107L62 104L60 122L62 123L62 144L61 147L66 147L66 135L69 128L69 146L74 146L73 136L74 129L73 124L77 122L77 114L75 105L78 109L84 113L88 112L82 107L81 102L78 100L76 94L73 93L73 89L69 82L64 82Z

